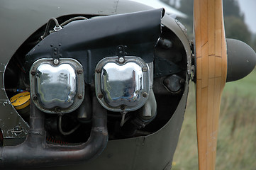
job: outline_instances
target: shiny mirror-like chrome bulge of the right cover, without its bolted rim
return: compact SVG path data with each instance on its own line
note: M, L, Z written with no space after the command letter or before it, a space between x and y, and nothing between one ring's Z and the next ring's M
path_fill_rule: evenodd
M140 100L143 89L143 71L138 64L128 62L118 65L111 62L103 67L101 91L108 105L136 106L135 101Z

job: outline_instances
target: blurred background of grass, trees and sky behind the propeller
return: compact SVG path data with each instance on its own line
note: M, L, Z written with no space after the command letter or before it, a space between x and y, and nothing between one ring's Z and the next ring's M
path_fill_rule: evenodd
M165 5L175 13L193 38L193 0L135 0L155 8ZM226 38L242 40L256 51L256 1L223 0ZM197 170L194 83L190 84L187 111L174 154L172 170ZM256 69L244 79L226 84L221 103L218 170L256 169Z

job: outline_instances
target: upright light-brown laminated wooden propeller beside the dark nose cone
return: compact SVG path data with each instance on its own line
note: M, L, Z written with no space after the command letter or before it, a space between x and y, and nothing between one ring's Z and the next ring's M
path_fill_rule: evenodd
M214 170L227 51L222 0L194 0L199 170Z

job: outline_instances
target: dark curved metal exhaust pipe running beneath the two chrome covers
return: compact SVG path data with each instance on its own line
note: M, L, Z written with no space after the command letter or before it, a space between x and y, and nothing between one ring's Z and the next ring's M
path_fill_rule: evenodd
M28 136L21 145L0 147L0 167L77 164L98 157L108 142L106 120L106 110L94 96L89 140L81 145L51 145L45 140L44 113L31 102Z

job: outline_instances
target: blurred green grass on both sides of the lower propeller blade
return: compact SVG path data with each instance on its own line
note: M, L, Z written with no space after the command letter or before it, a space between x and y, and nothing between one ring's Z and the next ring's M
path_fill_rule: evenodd
M198 170L194 84L172 170ZM221 102L216 170L256 169L256 69L226 84Z

